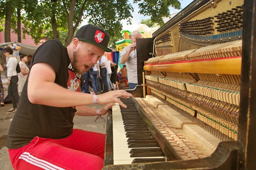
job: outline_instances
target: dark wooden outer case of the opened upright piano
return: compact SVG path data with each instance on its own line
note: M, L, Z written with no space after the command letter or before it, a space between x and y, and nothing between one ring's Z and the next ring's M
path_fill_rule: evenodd
M204 3L206 0L196 0L197 4ZM186 13L179 13L181 16L186 17ZM244 29L243 29L243 55L241 62L241 104L239 111L239 139L237 142L221 142L215 152L204 159L196 160L179 160L175 152L167 153L171 160L166 162L143 163L143 164L129 164L129 165L113 165L113 133L112 132L112 116L108 114L107 128L106 128L106 150L105 162L103 170L250 170L255 169L255 153L256 147L256 0L244 1ZM190 8L190 7L189 7ZM173 20L175 22L176 19ZM161 34L160 28L159 34ZM157 35L155 35L157 36ZM154 37L154 35L153 35ZM152 53L151 48L153 45L153 38L147 40L139 40L137 42L138 54L138 84L142 84L142 76L140 74L143 70L144 61L150 58L149 53ZM147 46L148 49L145 49ZM254 47L254 48L253 48ZM134 96L142 97L142 86L137 86L137 90L133 93ZM141 114L141 108L134 104ZM141 114L142 116L144 114ZM145 117L145 115L144 115ZM145 118L146 119L146 118ZM148 121L146 121L148 122ZM151 123L147 123L151 128ZM153 135L157 135L156 133ZM158 141L159 142L159 141ZM161 148L164 148L166 143L160 141ZM164 149L163 149L163 152Z

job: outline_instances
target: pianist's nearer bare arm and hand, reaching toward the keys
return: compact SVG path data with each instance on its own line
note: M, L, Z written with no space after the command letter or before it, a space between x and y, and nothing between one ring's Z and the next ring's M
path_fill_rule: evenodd
M54 82L55 74L55 70L47 63L40 62L33 65L28 80L28 98L30 102L53 107L81 106L93 103L93 95L71 91L57 85ZM131 94L125 91L111 92L98 95L99 104L105 105L116 102L124 105L117 97L131 97Z

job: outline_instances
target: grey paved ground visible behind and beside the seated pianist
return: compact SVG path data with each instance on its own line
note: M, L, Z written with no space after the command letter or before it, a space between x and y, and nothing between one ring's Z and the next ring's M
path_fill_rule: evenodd
M2 82L4 87L6 88L7 79L2 75ZM121 87L124 84L121 85ZM123 89L123 88L122 88ZM95 108L102 108L102 105L90 105L90 107ZM12 118L15 113L8 112L12 108L12 104L6 104L4 107L0 107L0 170L13 170L10 160L9 154L6 147L6 139L8 135L8 130ZM103 116L106 119L106 115ZM94 124L94 120L96 117L83 117L83 116L75 116L74 117L74 128L83 129L83 130L90 130L93 132L105 133L105 128L103 128L102 120L96 122Z

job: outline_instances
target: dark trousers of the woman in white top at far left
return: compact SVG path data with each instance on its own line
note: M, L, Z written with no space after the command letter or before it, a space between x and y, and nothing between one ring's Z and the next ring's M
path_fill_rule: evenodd
M8 86L8 94L12 99L12 108L16 109L17 104L20 100L20 96L18 94L17 82L19 78L18 76L12 76L10 80L10 85Z

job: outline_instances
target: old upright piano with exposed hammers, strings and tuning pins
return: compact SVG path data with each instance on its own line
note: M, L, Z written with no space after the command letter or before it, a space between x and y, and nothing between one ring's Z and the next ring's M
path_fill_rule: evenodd
M256 0L195 0L137 40L138 86L108 113L103 170L256 167Z

